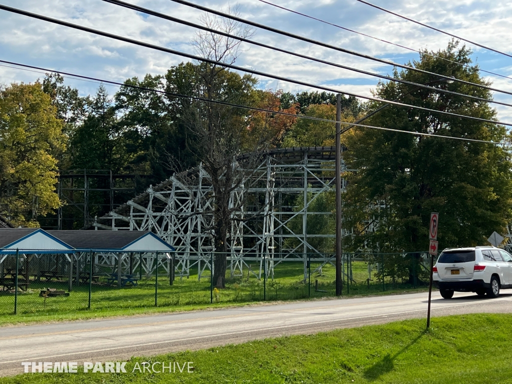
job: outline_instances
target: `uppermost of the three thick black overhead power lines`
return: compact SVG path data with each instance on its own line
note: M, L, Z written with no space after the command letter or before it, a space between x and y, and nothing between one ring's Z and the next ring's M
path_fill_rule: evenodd
M320 47L325 47L325 48L333 49L335 51L339 51L339 52L343 52L343 53L348 53L350 55L362 57L362 58L365 58L365 59L368 59L368 60L373 60L373 61L381 62L381 63L384 63L384 64L388 64L390 66L394 66L394 67L398 67L398 68L402 68L402 69L408 69L408 70L415 71L415 72L418 72L418 73L439 76L439 74L434 73L434 72L424 71L422 69L418 69L418 68L410 67L410 66L407 66L407 65L399 64L399 63L394 62L394 61L380 59L378 57L373 57L373 56L370 56L370 55L365 55L364 53L360 53L360 52L356 52L356 51L351 51L351 50L348 50L348 49L345 49L345 48L336 47L336 46L333 46L333 45L330 45L330 44L326 44L325 42L322 42L322 41L313 40L313 39L310 39L308 37L303 37L303 36L295 35L293 33L282 31L282 30L277 29L277 28L272 28L272 27L268 27L268 26L263 25L263 24L254 23L254 22L251 22L250 20L246 20L246 19L243 19L243 18L238 17L238 16L233 16L233 15L230 15L228 13L216 11L215 9L203 7L203 6L194 4L194 3L189 3L189 2L187 2L185 0L170 0L170 1L172 1L174 3L186 5L187 7L196 8L196 9L199 9L201 11L209 12L209 13L221 16L221 17L226 17L226 18L229 18L231 20L235 20L235 21L237 21L239 23L244 23L244 24L256 27L256 28L261 28L261 29L264 29L264 30L267 30L267 31L270 31L270 32L273 32L273 33L278 33L278 34L283 35L283 36L287 36L287 37L291 37L291 38L294 38L294 39L297 39L297 40L302 40L302 41L305 41L305 42L309 42L310 44L314 44L314 45L317 45L317 46L320 46ZM506 93L506 94L509 94L509 95L512 94L511 92L499 90L499 89L492 88L492 87L487 87L487 86L484 86L482 84L476 84L476 83L473 83L471 81L465 81L465 80L461 80L461 79L457 79L457 78L454 78L454 81L457 81L457 82L460 82L460 83L463 83L463 84L468 84L468 85L475 86L475 87L479 87L479 88L483 88L483 89L487 89L489 91L501 92L501 93Z

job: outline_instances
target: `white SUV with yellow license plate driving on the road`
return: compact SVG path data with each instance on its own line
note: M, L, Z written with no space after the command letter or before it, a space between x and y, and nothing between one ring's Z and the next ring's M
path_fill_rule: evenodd
M433 272L444 298L452 298L455 291L497 297L500 288L512 288L512 256L496 247L445 249Z

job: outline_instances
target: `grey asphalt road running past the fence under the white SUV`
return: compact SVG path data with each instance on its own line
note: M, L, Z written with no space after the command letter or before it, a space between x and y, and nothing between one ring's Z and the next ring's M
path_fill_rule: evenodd
M512 313L512 294L496 299L433 292L432 315ZM22 361L118 361L247 340L426 317L428 293L322 300L176 314L0 328L0 375ZM435 321L434 321L435 324Z

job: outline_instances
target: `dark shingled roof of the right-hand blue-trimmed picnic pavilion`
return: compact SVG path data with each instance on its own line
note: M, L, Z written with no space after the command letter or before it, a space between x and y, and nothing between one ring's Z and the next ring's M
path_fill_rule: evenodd
M149 231L49 230L52 236L77 249L122 249Z

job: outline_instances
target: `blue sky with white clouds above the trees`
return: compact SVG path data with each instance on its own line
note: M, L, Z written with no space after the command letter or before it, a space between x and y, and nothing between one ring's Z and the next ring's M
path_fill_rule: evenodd
M170 0L125 0L139 6L200 23L203 12ZM205 7L226 11L239 5L240 15L254 22L283 29L332 45L405 63L418 54L372 38L360 36L300 15L264 4L258 0L189 0ZM374 4L406 15L422 23L477 41L512 54L509 26L512 2L507 0L371 0ZM416 50L445 48L449 36L407 22L355 0L269 0L274 4L324 19L346 28L393 41ZM153 16L139 14L101 0L3 0L2 4L59 18L71 23L131 37L175 50L194 53L189 41L195 30ZM254 40L279 46L324 60L389 74L392 68L348 54L306 44L255 29ZM279 52L243 44L237 65L262 72L322 84L340 91L370 95L377 79L340 70ZM512 58L472 47L473 58L482 69L512 77ZM133 46L86 32L68 29L26 16L0 11L0 59L29 65L123 81L146 73L162 74L184 59L172 54ZM34 81L39 73L0 67L0 83ZM487 75L494 87L512 92L512 79ZM66 82L81 94L95 93L98 84L75 79ZM260 79L261 88L298 92L304 89L282 81ZM115 87L108 87L115 93ZM512 96L496 93L495 99L512 104ZM498 117L512 122L512 108L497 105Z

